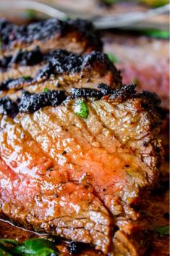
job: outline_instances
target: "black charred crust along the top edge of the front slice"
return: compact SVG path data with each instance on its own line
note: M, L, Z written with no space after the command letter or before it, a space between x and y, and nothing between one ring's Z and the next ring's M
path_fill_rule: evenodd
M65 94L62 90L52 90L42 92L40 94L30 94L27 91L22 91L22 96L18 99L18 102L12 102L9 97L4 97L0 99L0 113L4 115L11 115L14 110L17 112L30 112L33 113L42 107L52 106L56 107L66 99L75 98L88 98L93 97L93 99L103 99L109 100L110 102L123 102L125 99L143 99L142 106L145 110L149 112L160 112L159 105L161 100L156 96L156 94L151 94L144 91L143 94L137 93L135 91L135 85L123 86L119 89L110 89L106 84L99 84L98 90L92 88L72 88L71 96ZM66 101L67 102L67 101ZM159 122L160 119L158 118ZM155 123L157 126L158 123Z

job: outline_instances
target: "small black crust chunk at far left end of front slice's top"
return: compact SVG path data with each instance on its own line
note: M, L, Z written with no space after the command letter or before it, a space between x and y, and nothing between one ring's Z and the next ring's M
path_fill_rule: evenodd
M0 114L9 115L14 117L18 113L17 103L12 102L9 97L4 97L0 99Z

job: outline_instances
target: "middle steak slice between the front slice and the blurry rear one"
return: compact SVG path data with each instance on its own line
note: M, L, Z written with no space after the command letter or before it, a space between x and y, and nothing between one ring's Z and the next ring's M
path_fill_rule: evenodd
M28 55L26 54L26 56ZM32 55L33 59L34 55ZM25 60L24 58L25 52L22 52L21 62ZM97 88L98 83L106 83L111 88L122 86L122 77L119 71L109 61L107 55L99 51L92 51L81 57L68 51L56 50L42 58L46 61L30 67L28 65L20 66L19 63L19 70L18 72L15 70L15 75L20 73L20 67L22 67L22 75L26 76L21 77L20 75L19 78L12 79L9 69L6 74L9 79L0 83L0 96L10 95L12 99L17 99L22 88L32 93L42 92L46 88L50 90L64 89L69 93L72 87ZM43 67L41 68L41 66ZM38 72L33 76L36 70ZM4 73L1 73L1 78L4 78Z

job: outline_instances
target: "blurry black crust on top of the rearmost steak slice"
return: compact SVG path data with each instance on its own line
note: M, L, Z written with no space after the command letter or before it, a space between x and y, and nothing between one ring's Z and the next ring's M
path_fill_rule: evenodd
M32 43L55 35L64 36L66 33L77 31L80 36L88 39L88 44L101 50L102 45L93 25L86 20L66 20L48 19L33 22L29 25L15 25L7 20L0 19L1 44L2 48L11 46L14 42Z

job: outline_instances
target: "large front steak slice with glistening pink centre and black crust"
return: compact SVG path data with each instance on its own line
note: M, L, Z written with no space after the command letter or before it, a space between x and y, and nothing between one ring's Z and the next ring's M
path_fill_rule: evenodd
M123 244L124 255L140 255L133 237L144 226L132 205L156 181L162 158L157 97L101 85L72 88L67 99L61 91L26 92L9 102L17 112L12 119L10 104L1 103L2 212L103 253Z

